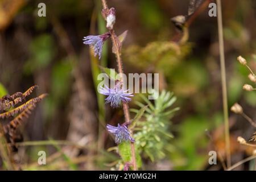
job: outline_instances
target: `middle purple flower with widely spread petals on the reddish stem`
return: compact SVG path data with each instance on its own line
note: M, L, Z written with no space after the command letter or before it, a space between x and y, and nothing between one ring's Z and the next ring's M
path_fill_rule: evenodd
M131 101L131 96L133 94L127 93L128 90L123 90L121 88L121 82L118 82L115 84L114 89L108 88L108 86L104 85L104 87L100 87L98 90L101 94L104 94L105 96L108 96L105 100L106 103L110 103L112 107L119 107L121 105L121 101L123 102L129 102Z

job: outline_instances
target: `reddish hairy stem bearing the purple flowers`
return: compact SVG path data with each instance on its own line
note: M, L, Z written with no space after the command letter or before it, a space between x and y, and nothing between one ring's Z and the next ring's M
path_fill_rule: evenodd
M108 5L106 4L106 0L102 0L102 6L105 10L108 10ZM120 80L122 81L122 74L123 74L123 68L122 68L122 60L121 60L121 53L119 52L119 46L118 46L118 40L117 36L115 35L114 30L110 30L110 35L113 43L113 47L115 49L115 56L117 58L117 65L118 65L118 73L120 74ZM123 104L123 113L125 114L125 123L130 123L130 113L129 113L129 106L126 102L122 102ZM132 133L131 133L132 134ZM132 158L132 165L134 171L137 171L137 163L136 163L136 157L135 157L135 146L133 142L130 142L131 146L131 158Z

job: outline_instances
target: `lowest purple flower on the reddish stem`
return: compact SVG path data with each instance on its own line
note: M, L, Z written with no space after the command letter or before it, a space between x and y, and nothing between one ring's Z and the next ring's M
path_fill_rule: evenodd
M123 140L130 140L131 142L135 142L135 140L130 136L130 132L125 125L117 125L117 127L112 125L106 126L109 133L115 135L115 143L119 144Z

